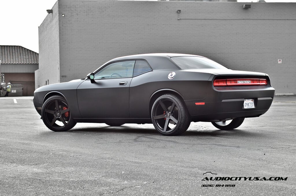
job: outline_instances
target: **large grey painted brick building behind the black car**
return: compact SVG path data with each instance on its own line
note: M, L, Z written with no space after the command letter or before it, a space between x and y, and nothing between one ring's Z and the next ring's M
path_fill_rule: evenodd
M39 27L36 87L84 78L114 57L171 52L268 73L276 93L296 94L295 9L296 3L58 0Z

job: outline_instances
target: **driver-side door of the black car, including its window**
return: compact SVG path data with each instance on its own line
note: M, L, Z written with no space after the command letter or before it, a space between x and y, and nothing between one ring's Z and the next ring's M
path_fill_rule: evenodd
M129 118L129 86L135 60L112 62L77 88L82 118Z

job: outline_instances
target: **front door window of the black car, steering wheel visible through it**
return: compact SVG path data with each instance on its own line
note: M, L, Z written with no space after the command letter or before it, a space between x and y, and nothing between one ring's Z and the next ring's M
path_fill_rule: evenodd
M133 76L136 61L114 62L99 70L94 79L101 78L128 78Z

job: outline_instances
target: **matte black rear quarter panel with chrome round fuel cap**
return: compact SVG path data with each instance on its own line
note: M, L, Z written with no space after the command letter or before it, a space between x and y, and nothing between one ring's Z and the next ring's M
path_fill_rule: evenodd
M168 79L172 71L176 76ZM134 77L130 85L130 118L150 118L150 99L157 91L172 89L184 100L204 99L211 75L183 70L157 70Z

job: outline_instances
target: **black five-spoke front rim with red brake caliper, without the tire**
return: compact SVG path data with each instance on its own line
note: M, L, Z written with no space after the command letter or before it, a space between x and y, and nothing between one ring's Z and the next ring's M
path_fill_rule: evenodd
M50 100L44 108L43 118L49 126L62 129L69 123L71 118L67 103L61 99Z

